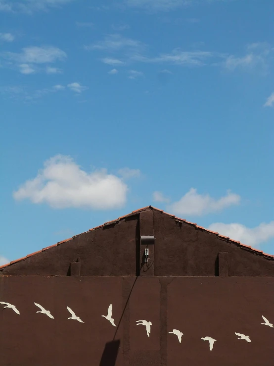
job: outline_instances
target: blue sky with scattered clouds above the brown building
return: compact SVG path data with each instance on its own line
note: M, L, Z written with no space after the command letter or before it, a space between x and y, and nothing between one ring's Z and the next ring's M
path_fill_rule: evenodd
M273 13L0 0L0 263L148 205L274 254Z

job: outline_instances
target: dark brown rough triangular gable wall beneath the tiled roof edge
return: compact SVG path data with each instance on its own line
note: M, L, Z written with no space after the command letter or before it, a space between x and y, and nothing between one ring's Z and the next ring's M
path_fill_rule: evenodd
M151 266L140 271L140 235L155 235ZM227 253L224 255L224 253ZM0 270L6 275L70 275L79 258L83 276L274 276L274 258L155 209L126 216ZM74 265L74 264L73 264Z

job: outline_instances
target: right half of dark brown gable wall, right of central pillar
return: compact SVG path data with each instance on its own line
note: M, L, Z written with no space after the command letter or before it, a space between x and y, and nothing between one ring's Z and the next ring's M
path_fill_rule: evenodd
M228 276L274 276L274 260L153 211L154 274L218 276L218 253L228 253Z

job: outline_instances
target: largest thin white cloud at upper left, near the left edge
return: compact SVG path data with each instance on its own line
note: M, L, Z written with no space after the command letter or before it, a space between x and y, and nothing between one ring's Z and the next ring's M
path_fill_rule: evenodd
M21 53L4 52L3 57L22 63L51 63L63 60L67 57L66 52L57 47L26 47Z

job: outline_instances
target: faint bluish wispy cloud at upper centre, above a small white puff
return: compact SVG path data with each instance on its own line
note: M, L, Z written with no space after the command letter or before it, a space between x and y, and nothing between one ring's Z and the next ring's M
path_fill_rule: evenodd
M86 46L86 50L104 50L104 51L120 51L120 50L132 50L139 51L144 49L144 44L140 41L126 38L120 34L110 34L104 38L103 41L99 41L93 45Z

